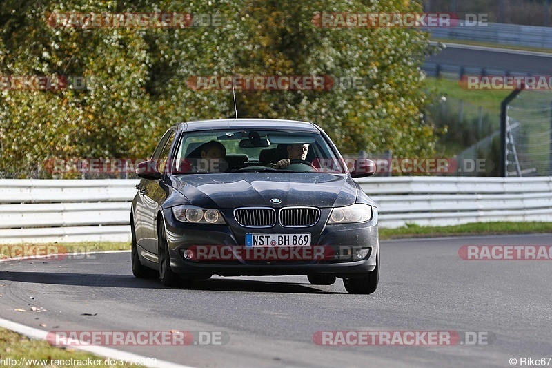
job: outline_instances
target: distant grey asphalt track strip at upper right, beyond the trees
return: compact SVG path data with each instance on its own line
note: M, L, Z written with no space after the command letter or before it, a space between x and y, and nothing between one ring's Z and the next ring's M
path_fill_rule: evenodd
M426 61L453 66L509 70L533 75L552 75L552 54L446 43L446 48Z

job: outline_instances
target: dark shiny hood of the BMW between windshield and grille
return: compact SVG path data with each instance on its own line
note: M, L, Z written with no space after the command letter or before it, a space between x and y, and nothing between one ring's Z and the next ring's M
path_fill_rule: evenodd
M357 186L348 175L325 173L224 173L177 175L172 185L190 204L204 208L241 206L347 206ZM277 198L282 202L270 202Z

